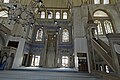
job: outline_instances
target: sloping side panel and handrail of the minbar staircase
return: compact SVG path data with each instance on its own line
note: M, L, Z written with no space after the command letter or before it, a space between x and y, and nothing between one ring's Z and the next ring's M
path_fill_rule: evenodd
M102 44L105 45L105 44L102 43L100 40L96 41L96 40L92 39L91 42L92 42L92 48L109 65L109 67L113 71L115 71L112 57L109 55L110 50L108 50L108 49L110 49L110 47L108 46L108 47L105 48L105 46L104 46L104 48L103 48L101 45ZM102 43L102 44L100 45L99 43Z

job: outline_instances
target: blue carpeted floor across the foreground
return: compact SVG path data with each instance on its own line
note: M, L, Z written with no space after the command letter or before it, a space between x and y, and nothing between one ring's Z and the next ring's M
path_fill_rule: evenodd
M104 80L74 69L15 69L1 70L0 80Z

